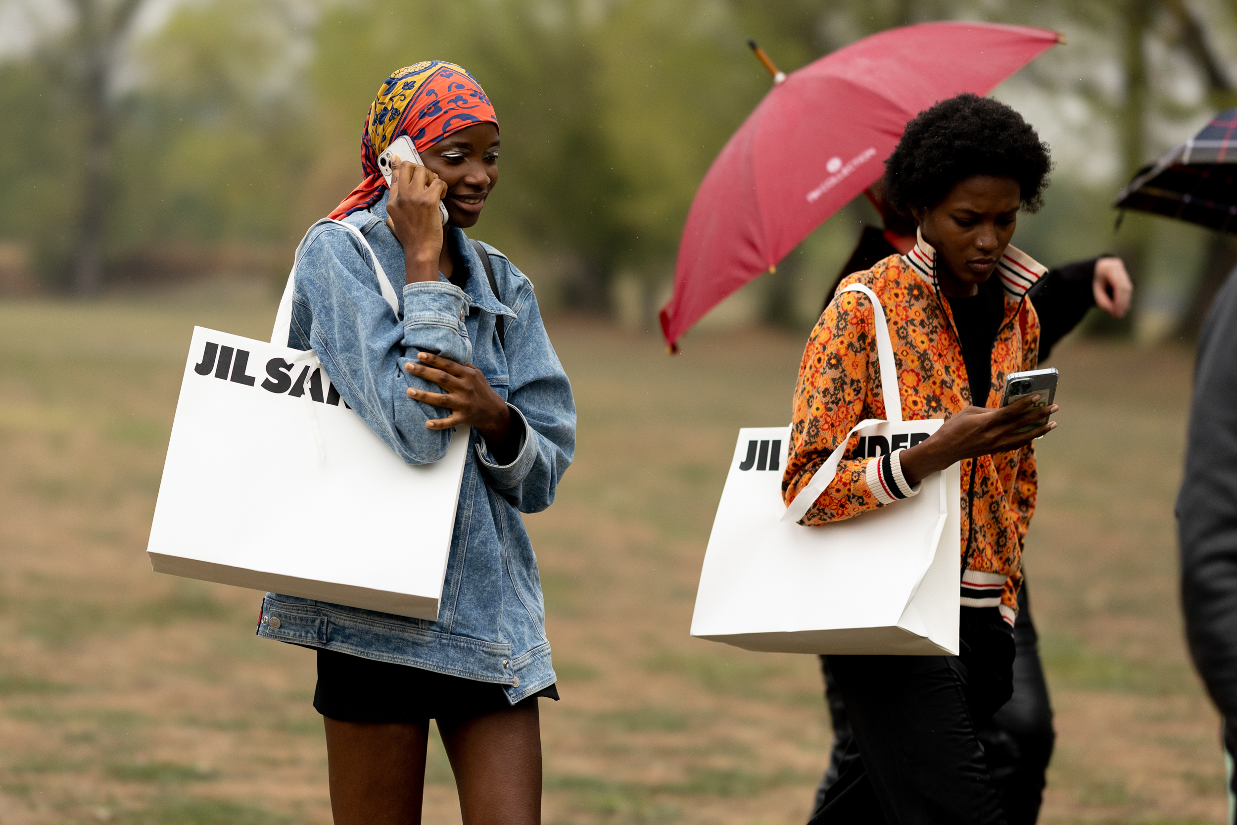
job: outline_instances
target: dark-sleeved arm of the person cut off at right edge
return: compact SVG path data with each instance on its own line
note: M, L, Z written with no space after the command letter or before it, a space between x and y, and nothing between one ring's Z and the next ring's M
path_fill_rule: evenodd
M1216 296L1195 367L1176 500L1190 653L1220 712L1237 719L1237 278Z

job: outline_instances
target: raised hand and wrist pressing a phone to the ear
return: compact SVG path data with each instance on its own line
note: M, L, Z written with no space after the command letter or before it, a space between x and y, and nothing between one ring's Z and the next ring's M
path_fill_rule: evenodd
M437 281L438 257L443 251L443 219L438 204L447 194L447 183L423 166L392 156L387 198L387 226L403 246L404 277Z

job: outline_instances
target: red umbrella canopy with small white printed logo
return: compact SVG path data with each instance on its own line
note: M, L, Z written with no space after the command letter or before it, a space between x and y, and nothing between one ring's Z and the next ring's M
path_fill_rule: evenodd
M667 344L872 186L907 121L955 94L987 94L1058 42L1047 28L920 24L865 37L774 85L691 202L662 309Z

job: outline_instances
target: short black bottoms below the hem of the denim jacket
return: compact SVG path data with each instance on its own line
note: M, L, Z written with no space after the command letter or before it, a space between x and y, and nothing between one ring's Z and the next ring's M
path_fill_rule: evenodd
M313 706L328 719L344 722L426 722L430 719L468 719L512 706L502 685L492 682L317 649L318 686ZM542 688L518 704L537 701L538 696L557 701L558 686Z

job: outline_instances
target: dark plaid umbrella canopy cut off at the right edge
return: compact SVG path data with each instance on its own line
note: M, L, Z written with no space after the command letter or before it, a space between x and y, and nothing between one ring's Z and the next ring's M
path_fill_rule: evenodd
M1138 169L1112 205L1237 234L1237 109Z

